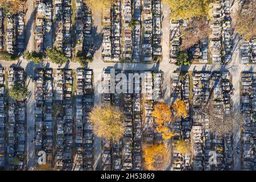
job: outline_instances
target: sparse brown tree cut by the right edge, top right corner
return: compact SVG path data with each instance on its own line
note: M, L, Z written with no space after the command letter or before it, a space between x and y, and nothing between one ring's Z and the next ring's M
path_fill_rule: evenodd
M237 14L236 31L243 39L249 41L256 36L256 0L246 1Z

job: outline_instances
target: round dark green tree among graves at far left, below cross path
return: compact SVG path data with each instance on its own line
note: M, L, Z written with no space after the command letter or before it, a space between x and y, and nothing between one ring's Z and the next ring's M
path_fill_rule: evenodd
M28 97L28 90L26 86L15 82L15 84L9 89L9 96L16 101L23 101Z

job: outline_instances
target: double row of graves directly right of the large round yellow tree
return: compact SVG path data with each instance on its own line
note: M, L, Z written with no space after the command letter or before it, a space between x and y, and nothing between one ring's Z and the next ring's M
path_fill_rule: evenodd
M126 75L128 76L128 74ZM141 81L131 80L127 82L133 84L133 93L123 94L123 107L126 115L125 136L123 137L123 163L122 170L141 171L142 170L142 94ZM128 90L127 90L128 91Z

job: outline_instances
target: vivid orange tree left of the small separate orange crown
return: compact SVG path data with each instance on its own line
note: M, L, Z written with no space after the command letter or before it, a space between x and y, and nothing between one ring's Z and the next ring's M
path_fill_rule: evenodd
M172 111L170 106L165 103L159 103L154 106L152 116L155 117L156 131L162 134L163 139L170 139L172 137L171 130L167 125L172 122Z

